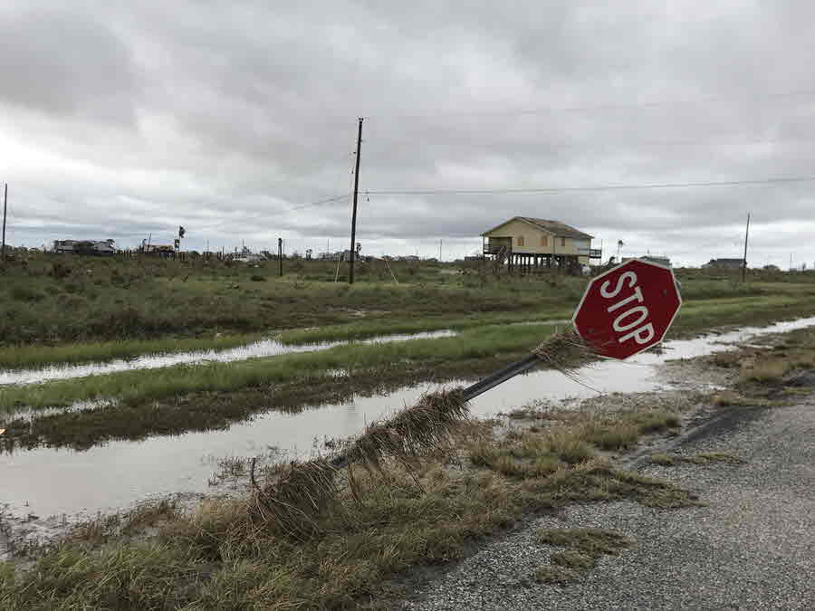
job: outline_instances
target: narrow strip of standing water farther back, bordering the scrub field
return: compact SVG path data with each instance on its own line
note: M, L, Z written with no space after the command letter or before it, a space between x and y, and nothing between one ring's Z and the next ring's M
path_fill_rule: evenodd
M341 341L326 341L317 344L300 345L287 345L275 339L262 339L251 344L246 344L245 346L225 350L198 350L195 352L149 354L138 358L116 359L104 363L86 363L84 365L68 366L55 365L43 369L0 371L0 386L6 384L37 384L38 382L68 379L71 377L100 376L102 374L129 371L132 369L155 369L185 364L196 365L213 361L231 363L248 358L277 357L295 352L315 352L317 350L325 350L350 343L377 344L391 341L407 341L409 339L449 338L455 335L457 335L455 331L444 329L423 333L382 335L370 339L344 339Z

